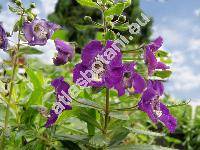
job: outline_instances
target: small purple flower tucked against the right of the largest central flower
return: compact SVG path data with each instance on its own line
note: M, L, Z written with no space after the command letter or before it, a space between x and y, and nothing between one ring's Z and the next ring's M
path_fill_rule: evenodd
M122 93L127 89L130 94L141 94L146 88L144 78L135 71L134 67L135 63L123 64L123 80L118 86Z

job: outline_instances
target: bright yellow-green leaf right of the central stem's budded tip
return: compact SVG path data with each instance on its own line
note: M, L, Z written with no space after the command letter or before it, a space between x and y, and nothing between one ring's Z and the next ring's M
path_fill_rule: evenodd
M106 16L111 16L111 15L121 15L122 12L125 9L125 4L124 3L117 3L114 6L110 7L104 12L105 17Z

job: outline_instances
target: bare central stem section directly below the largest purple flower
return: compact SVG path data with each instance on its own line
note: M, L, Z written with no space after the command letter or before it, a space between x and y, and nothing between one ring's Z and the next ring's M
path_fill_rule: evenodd
M107 127L108 127L108 123L109 123L109 113L110 113L110 110L109 110L109 106L110 106L110 91L109 91L109 88L106 88L106 106L105 106L105 123L104 123L104 134L107 133Z

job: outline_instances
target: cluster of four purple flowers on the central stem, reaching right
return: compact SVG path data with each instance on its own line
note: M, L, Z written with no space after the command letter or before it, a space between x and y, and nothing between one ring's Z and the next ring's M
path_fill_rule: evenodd
M163 39L159 37L145 47L144 58L148 66L149 76L152 76L156 69L169 69L164 63L159 62L155 56L155 52L162 46L162 43ZM119 96L124 95L126 91L130 94L141 94L138 108L146 112L154 123L160 120L170 132L174 132L177 125L176 119L169 113L167 107L160 102L160 97L164 93L162 82L144 79L135 71L137 64L134 62L123 63L122 53L114 51L112 44L113 41L107 41L105 47L100 41L91 41L87 44L82 51L82 62L74 68L74 82L80 86L114 88L118 91ZM102 55L108 49L114 51L114 54L112 53L113 59L100 57L109 56ZM96 63L97 61L101 63Z

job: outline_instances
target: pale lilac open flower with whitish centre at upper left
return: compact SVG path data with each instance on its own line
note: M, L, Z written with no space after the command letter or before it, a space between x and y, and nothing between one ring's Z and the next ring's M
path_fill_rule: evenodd
M29 45L45 45L53 32L59 28L59 25L44 19L35 19L32 22L24 22L23 32Z

